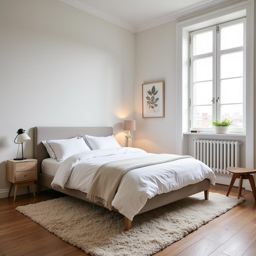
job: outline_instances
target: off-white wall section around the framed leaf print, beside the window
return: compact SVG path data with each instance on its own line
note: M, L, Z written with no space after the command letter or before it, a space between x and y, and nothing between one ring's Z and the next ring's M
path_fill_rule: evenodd
M175 21L136 34L135 147L175 153ZM164 80L165 118L142 119L142 83Z

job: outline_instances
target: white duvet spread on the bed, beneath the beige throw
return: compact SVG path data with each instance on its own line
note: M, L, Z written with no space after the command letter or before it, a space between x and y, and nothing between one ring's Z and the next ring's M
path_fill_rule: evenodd
M96 170L104 163L154 155L138 148L110 148L79 153L67 158L57 170L52 187L88 191ZM215 174L204 163L194 158L130 170L120 180L112 206L132 220L147 199L209 179L215 185Z

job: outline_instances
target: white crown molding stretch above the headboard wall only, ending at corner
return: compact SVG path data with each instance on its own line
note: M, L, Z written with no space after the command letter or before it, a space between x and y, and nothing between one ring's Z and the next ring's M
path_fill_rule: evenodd
M89 4L88 2L84 0L60 0L66 4L72 5L74 7L77 7L87 13L93 14L99 18L102 18L104 20L107 20L115 25L118 25L120 27L126 28L132 32L136 32L136 25L122 19L118 16L115 16L109 12L106 12L105 10L96 7L95 5Z

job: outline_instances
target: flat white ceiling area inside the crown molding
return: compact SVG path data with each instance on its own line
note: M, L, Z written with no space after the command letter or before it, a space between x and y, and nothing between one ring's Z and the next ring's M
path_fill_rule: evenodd
M86 0L98 8L135 25L174 12L200 0Z

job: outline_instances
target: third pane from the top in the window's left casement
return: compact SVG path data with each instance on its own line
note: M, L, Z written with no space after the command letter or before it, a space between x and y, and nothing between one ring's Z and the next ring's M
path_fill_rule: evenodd
M201 82L194 84L194 105L211 104L212 82Z

